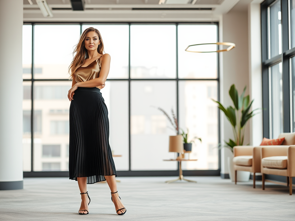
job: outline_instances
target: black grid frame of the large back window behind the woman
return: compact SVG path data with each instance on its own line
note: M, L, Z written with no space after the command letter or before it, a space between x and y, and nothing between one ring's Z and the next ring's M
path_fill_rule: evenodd
M47 24L47 25L54 25L54 24L73 24L73 25L80 25L80 34L82 33L82 25L83 24L128 24L129 25L129 77L126 79L107 79L110 81L128 81L129 83L129 170L128 171L117 171L118 176L122 177L133 177L133 176L178 176L179 175L179 167L177 170L144 170L144 171L134 171L131 170L131 133L130 133L130 112L131 112L131 105L130 105L130 81L141 81L141 80L174 80L176 81L176 108L177 108L177 117L178 116L178 82L179 81L216 81L217 82L217 100L219 101L219 54L217 53L217 78L209 78L209 79L187 79L187 78L178 78L178 25L182 24L214 24L217 26L217 42L219 40L219 22L24 22L24 25L32 25L32 77L31 79L23 79L23 81L30 81L31 82L31 98L33 98L34 92L34 82L35 81L68 81L68 79L34 79L34 26L40 24ZM176 25L176 78L165 78L165 79L158 79L158 78L151 78L151 79L132 79L130 78L130 25L132 24L175 24ZM31 114L34 112L34 99L31 99ZM218 143L220 143L220 112L218 111ZM34 116L33 114L31 116ZM24 177L68 177L68 171L34 171L34 133L32 131L34 128L34 118L31 118L31 171L24 171ZM218 149L218 169L217 170L183 170L184 176L220 176L220 149Z

